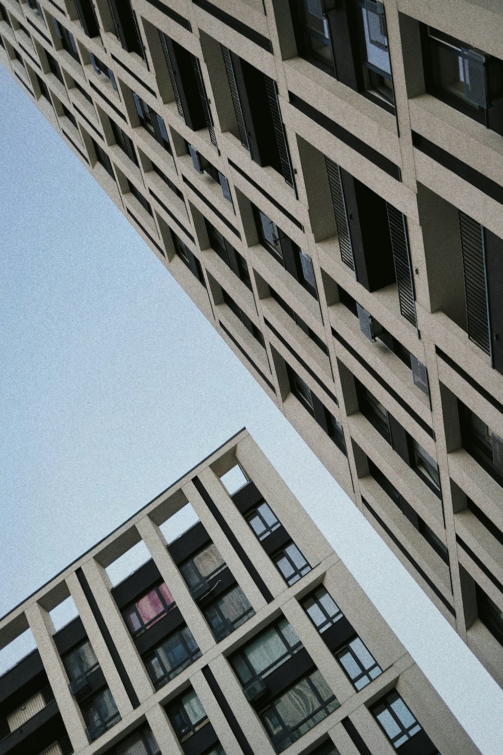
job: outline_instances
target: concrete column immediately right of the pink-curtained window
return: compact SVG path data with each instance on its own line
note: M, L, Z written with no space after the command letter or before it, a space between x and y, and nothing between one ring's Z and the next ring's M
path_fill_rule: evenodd
M166 541L161 530L152 522L149 516L144 516L139 522L136 522L136 529L140 533L143 542L149 549L152 559L155 561L161 577L169 587L176 605L182 612L187 626L191 630L196 643L201 652L206 652L215 645L215 640L210 632L206 621L196 606L195 601L189 593L185 580L182 578L176 565L173 563L170 554L167 551Z

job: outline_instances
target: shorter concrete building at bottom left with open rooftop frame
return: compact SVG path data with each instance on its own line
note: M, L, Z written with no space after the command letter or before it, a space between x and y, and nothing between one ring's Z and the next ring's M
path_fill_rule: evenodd
M0 647L27 628L2 755L480 753L246 430L3 617Z

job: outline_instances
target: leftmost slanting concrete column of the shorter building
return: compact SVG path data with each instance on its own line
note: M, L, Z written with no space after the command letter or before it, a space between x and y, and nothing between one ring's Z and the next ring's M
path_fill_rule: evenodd
M87 747L87 737L84 733L85 724L78 704L70 695L63 661L61 661L54 639L52 639L54 625L51 616L38 603L33 603L26 609L26 619L35 637L38 652L48 675L49 684L54 692L57 706L60 709L66 733L72 742L72 747L75 752L83 750L84 747Z

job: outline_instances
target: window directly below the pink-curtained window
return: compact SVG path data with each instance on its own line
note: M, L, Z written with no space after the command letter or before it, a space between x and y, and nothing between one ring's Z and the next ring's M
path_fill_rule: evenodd
M155 689L173 679L201 655L188 627L173 632L152 653L144 658Z

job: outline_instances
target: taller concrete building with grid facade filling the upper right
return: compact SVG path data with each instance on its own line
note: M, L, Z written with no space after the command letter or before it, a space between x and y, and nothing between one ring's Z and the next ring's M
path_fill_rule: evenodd
M501 2L0 14L2 63L503 685Z

